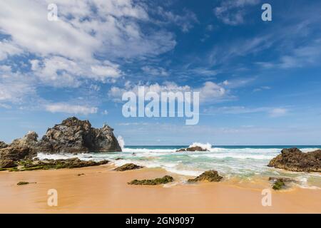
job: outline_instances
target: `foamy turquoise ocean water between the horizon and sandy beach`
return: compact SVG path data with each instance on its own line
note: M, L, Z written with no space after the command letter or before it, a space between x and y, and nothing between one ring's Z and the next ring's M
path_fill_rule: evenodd
M302 188L321 189L321 174L289 172L267 167L269 161L280 154L283 148L298 147L302 152L318 150L320 145L275 145L275 146L215 146L193 143L206 147L205 152L175 152L188 145L177 146L130 146L123 152L83 153L78 155L39 153L40 159L66 159L79 157L81 160L111 160L116 166L133 162L144 167L160 167L177 175L200 175L205 170L217 170L224 180L238 178L240 181L253 180L255 177L290 177ZM116 160L121 158L121 160Z

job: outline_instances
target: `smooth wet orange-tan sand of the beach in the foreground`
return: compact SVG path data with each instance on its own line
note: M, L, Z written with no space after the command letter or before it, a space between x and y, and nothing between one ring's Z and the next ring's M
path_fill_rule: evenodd
M261 192L270 186L267 181L186 185L180 183L182 177L161 169L112 169L111 165L102 165L73 170L2 171L0 213L321 213L321 190L271 190L272 207L263 207ZM127 185L134 179L163 175L172 175L178 183ZM21 181L36 183L16 185ZM57 207L47 204L49 189L58 191Z

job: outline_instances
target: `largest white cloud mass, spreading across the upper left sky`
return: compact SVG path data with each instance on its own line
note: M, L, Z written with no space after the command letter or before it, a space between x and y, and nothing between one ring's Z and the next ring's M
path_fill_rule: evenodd
M123 75L116 58L157 56L175 47L173 33L141 28L141 22L153 23L143 3L57 0L58 21L49 21L51 3L0 1L0 31L10 37L0 41L0 60L31 53L31 70L47 86L76 87L82 78L113 83Z

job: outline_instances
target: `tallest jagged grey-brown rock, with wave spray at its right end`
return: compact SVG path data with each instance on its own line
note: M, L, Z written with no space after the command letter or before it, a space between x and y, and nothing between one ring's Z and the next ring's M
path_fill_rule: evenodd
M121 151L113 128L91 127L88 120L67 118L61 124L49 128L46 135L37 144L38 152L112 152Z

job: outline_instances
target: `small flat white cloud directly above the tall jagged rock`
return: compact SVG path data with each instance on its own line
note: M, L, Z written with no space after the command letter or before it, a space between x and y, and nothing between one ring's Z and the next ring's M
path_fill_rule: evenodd
M88 107L86 105L71 105L68 103L52 103L45 105L47 111L51 113L69 113L69 114L95 114L98 111L96 107Z

